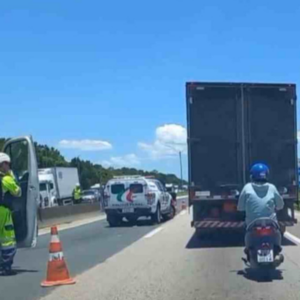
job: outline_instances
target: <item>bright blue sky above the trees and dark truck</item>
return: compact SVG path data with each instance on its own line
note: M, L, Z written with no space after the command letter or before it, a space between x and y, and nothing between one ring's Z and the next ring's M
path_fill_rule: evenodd
M67 158L178 174L186 81L300 80L296 0L2 2L1 136Z

